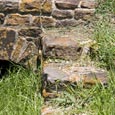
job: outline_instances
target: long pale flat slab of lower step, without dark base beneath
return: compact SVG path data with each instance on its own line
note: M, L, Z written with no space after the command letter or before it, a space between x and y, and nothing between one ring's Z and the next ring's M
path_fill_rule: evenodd
M107 72L93 66L79 67L64 63L48 63L44 66L44 74L51 83L60 82L83 83L94 85L107 84Z

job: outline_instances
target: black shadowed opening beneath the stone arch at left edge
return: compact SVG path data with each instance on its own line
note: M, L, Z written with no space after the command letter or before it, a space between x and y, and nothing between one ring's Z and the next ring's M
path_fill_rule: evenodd
M13 71L14 69L19 68L19 64L16 64L7 60L0 60L0 79L2 79L5 75L9 74L9 71Z

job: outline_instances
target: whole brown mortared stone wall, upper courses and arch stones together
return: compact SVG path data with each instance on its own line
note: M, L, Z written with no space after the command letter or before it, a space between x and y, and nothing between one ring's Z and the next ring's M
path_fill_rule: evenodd
M96 6L94 0L0 0L0 60L36 67L41 28L90 22Z

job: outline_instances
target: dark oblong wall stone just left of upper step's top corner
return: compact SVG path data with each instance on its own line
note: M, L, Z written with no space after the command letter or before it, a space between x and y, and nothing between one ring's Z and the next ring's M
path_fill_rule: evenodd
M42 30L38 27L28 27L19 30L20 36L38 37L42 33Z

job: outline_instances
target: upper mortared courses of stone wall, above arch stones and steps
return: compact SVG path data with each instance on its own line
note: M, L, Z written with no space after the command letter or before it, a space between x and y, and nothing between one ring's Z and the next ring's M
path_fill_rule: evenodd
M0 24L4 26L76 26L90 21L95 0L0 0Z

